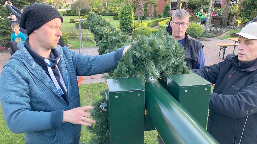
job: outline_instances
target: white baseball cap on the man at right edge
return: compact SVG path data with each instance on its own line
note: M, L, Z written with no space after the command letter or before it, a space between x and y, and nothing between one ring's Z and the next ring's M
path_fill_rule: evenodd
M231 37L242 36L246 39L256 40L257 39L257 22L247 24L240 33L231 33Z

